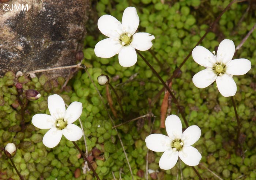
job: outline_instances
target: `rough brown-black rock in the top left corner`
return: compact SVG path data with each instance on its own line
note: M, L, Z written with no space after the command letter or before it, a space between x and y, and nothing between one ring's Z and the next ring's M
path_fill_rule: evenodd
M88 0L10 0L0 4L0 76L76 64ZM4 11L23 4L26 10ZM6 5L5 5L6 6ZM21 6L22 7L22 6ZM58 72L60 73L60 72Z

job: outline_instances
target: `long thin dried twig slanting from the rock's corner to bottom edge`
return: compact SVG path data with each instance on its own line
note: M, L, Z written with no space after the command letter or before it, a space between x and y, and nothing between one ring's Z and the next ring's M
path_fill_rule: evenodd
M112 117L111 117L110 114L109 114L108 108L106 107L106 105L105 105L105 103L104 103L104 100L103 100L103 98L102 98L102 96L101 96L101 93L99 92L97 86L95 85L93 79L91 78L90 73L87 71L86 68L84 68L84 70L86 71L86 73L88 74L89 79L90 79L91 82L93 83L93 86L95 87L95 89L96 89L96 91L97 91L99 97L101 98L101 101L102 101L102 103L103 103L103 105L104 105L104 107L105 107L105 110L107 111L108 116L109 116L109 118L110 118L110 120L111 120L111 122L112 122L112 124L113 124L113 126L114 126L114 121L113 121ZM128 160L128 157L127 157L127 153L125 152L123 141L121 140L121 137L119 136L117 129L116 129L116 128L114 128L114 129L115 129L116 132L117 132L117 137L118 137L118 139L119 139L119 141L120 141L120 144L121 144L121 146L122 146L122 148L123 148L124 155L125 155L125 159L126 159L126 161L127 161L127 164L128 164L128 167L129 167L131 176L132 176L132 180L133 180L134 178L133 178L133 174L132 174L132 168L131 168L131 165L130 165L130 163L129 163L129 160Z

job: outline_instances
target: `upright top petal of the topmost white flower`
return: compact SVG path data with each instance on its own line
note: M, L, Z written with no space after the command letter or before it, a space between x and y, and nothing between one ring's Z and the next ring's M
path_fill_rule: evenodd
M126 33L133 35L137 30L139 23L140 19L137 14L136 8L128 7L124 9L122 26Z

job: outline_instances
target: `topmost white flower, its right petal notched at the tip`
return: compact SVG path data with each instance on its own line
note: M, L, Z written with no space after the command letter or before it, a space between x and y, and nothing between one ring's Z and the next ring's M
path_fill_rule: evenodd
M133 66L137 62L135 49L146 51L153 45L151 40L155 39L153 35L146 32L135 33L139 22L139 16L134 7L124 10L122 24L113 16L101 16L98 20L99 31L109 38L96 44L95 55L100 58L111 58L118 54L121 66Z

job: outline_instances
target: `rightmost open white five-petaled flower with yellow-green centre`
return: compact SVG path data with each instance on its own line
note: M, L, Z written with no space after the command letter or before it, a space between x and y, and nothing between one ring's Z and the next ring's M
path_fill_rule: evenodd
M216 80L219 92L224 97L236 94L236 82L232 75L244 75L251 69L248 59L234 59L235 45L232 40L224 39L218 47L215 56L203 46L196 46L192 51L192 57L196 63L206 67L195 74L192 81L198 88L205 88Z

